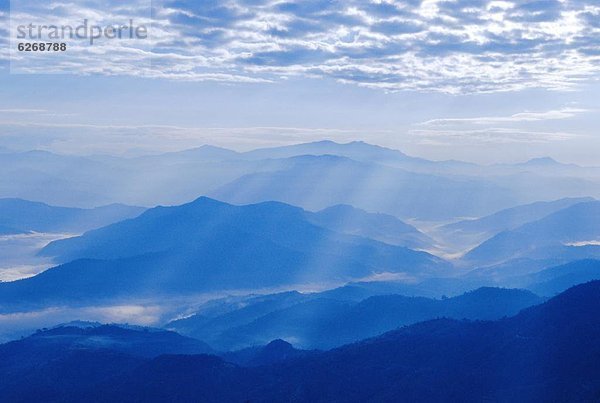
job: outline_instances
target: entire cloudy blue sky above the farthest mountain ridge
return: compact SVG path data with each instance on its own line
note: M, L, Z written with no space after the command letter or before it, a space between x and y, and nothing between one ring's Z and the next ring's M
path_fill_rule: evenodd
M15 28L149 37L16 51ZM600 165L593 0L0 0L0 147L136 155L362 140Z

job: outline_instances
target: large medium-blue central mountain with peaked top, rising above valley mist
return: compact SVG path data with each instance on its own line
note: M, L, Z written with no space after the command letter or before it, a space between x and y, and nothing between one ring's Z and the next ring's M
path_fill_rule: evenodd
M42 253L65 263L0 284L4 306L328 284L382 273L422 278L450 269L425 252L316 226L296 207L208 198L153 208L52 242Z

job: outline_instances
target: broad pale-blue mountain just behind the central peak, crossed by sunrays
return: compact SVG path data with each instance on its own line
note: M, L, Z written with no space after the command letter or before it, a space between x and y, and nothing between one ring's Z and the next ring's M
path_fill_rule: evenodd
M428 220L481 216L518 204L506 188L480 178L414 173L331 155L287 163L285 169L242 176L210 195L235 204L277 200L312 211L348 204Z

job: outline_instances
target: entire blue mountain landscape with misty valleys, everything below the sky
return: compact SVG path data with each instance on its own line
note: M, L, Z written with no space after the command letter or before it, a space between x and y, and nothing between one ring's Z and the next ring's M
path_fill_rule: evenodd
M0 164L2 401L600 400L600 168L332 141Z

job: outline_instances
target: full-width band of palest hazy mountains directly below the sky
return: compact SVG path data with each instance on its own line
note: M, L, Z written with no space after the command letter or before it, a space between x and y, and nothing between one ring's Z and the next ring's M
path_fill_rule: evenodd
M172 205L211 195L241 204L277 200L310 210L349 204L400 218L450 220L539 200L600 197L597 168L547 160L428 161L362 142L248 153L203 146L137 158L0 152L0 164L8 167L0 172L0 197L68 206Z

